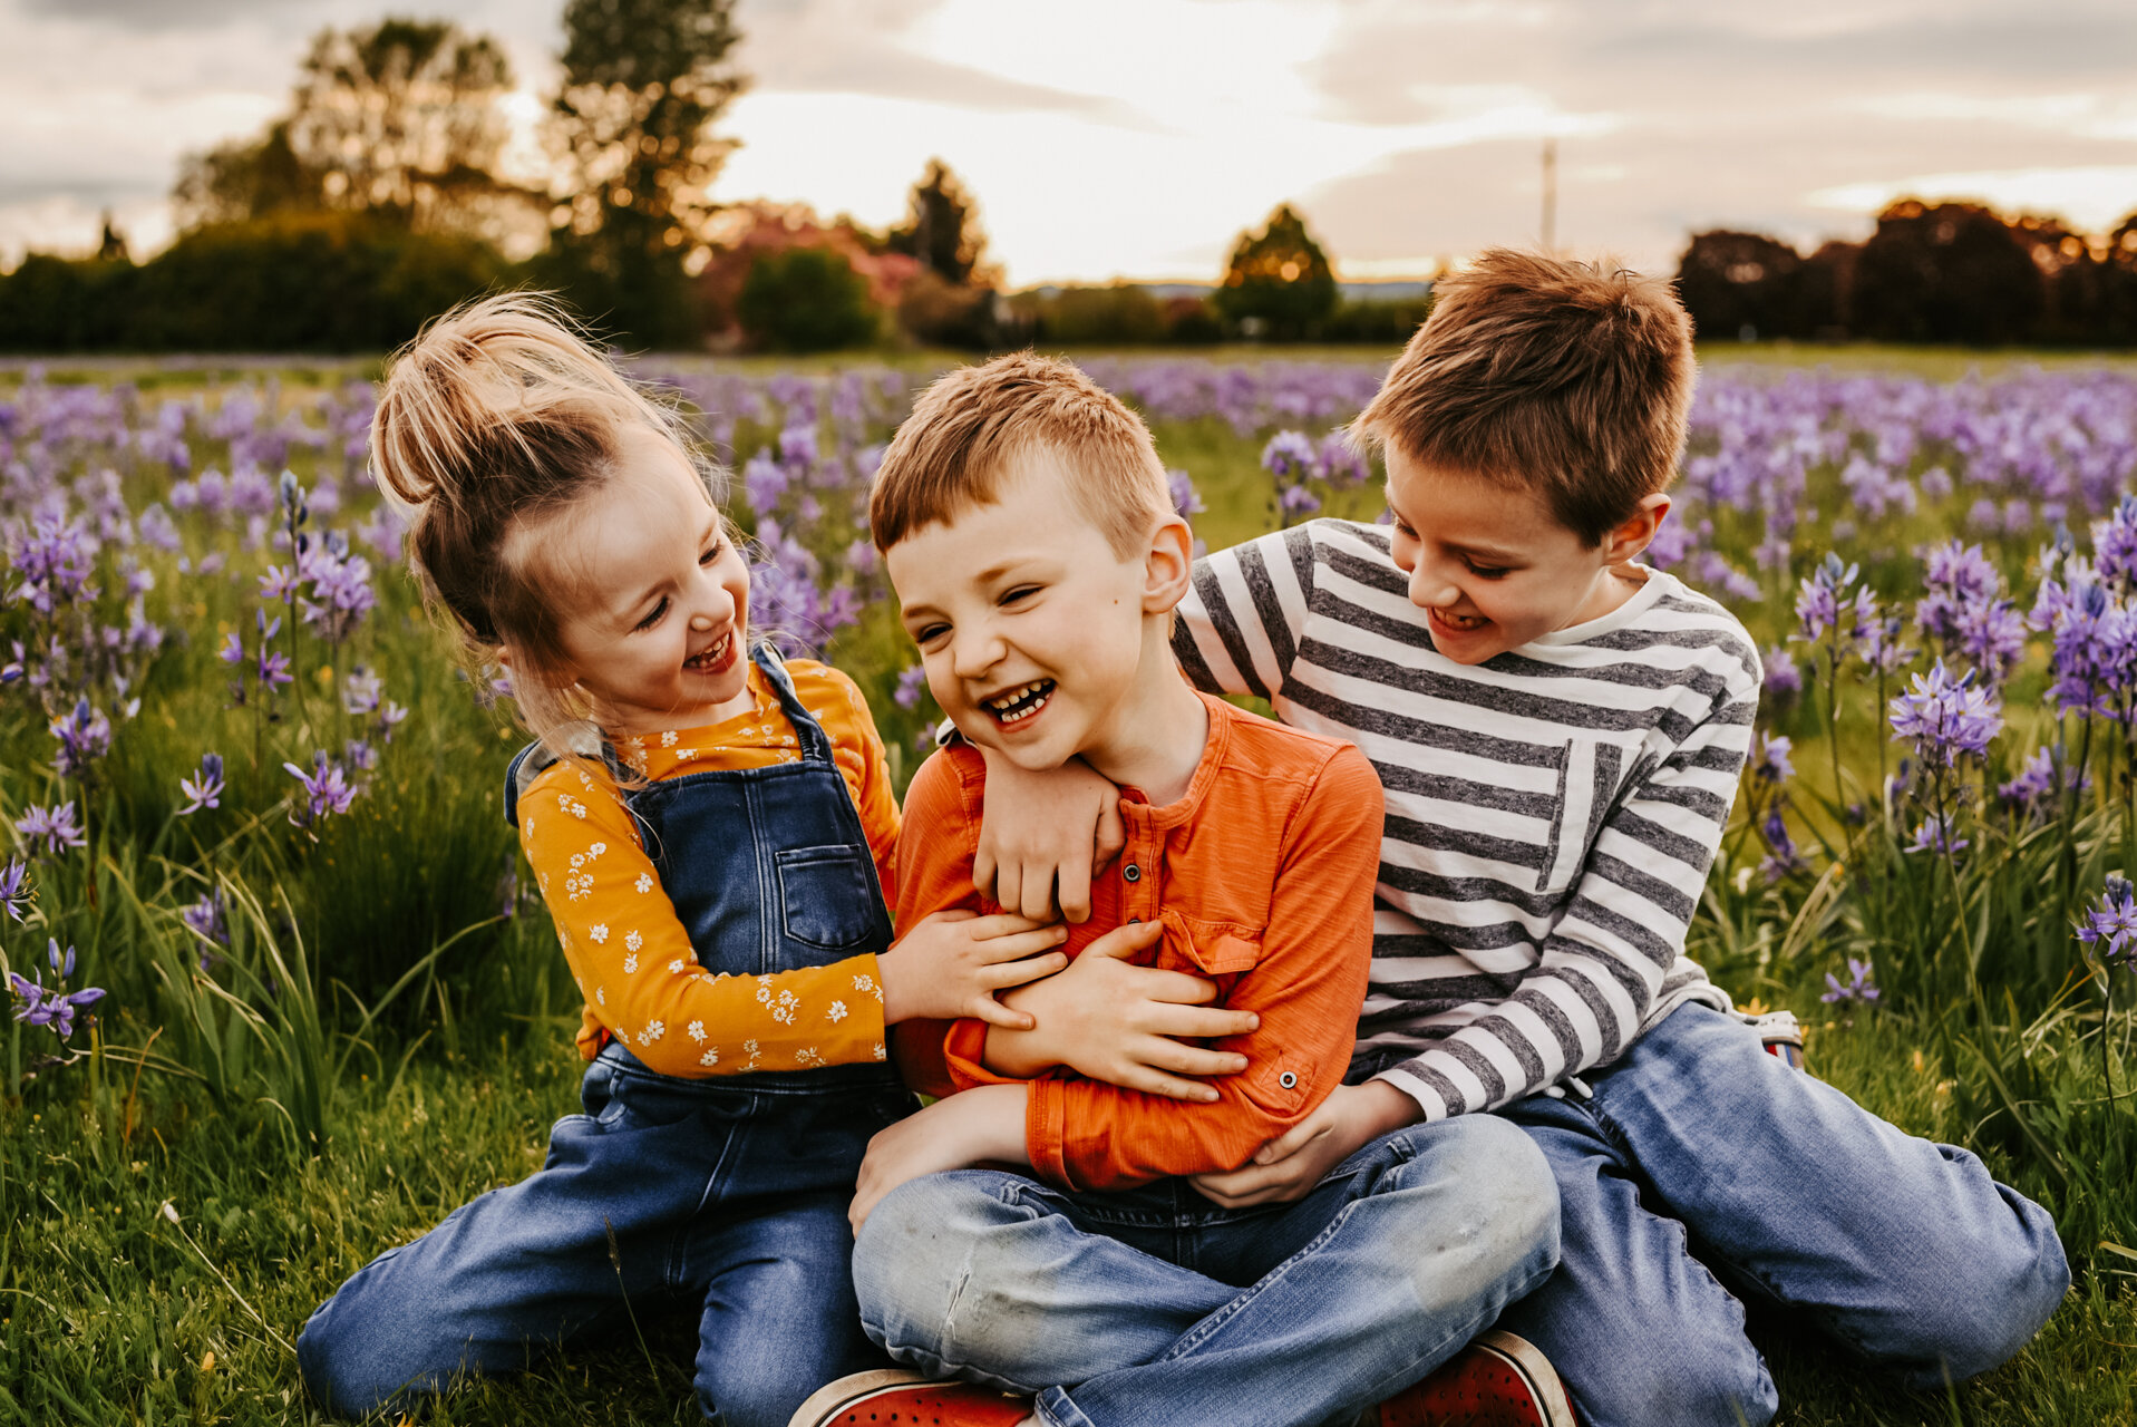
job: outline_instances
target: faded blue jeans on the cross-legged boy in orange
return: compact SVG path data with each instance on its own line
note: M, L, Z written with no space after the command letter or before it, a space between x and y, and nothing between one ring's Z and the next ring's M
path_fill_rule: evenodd
M1479 1115L1378 1139L1295 1205L927 1175L883 1198L853 1269L872 1339L1034 1393L1049 1427L1306 1427L1432 1371L1556 1258L1547 1166Z

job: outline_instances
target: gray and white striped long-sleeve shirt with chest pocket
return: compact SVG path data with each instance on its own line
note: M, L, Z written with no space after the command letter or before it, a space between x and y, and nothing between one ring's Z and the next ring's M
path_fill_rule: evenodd
M1759 709L1737 620L1660 570L1601 620L1466 667L1389 532L1310 521L1195 566L1173 649L1212 692L1357 743L1387 790L1351 1079L1428 1119L1603 1066L1686 1000L1684 955Z

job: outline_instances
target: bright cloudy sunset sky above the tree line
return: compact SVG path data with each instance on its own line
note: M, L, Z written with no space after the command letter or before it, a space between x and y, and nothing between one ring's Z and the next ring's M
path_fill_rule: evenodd
M111 209L171 237L186 152L259 132L306 41L387 11L504 41L545 0L0 0L0 265ZM1541 237L1669 271L1688 233L1863 237L1900 194L2107 231L2137 211L2128 0L739 0L716 199L895 222L927 158L1013 286L1214 280L1291 201L1351 280Z

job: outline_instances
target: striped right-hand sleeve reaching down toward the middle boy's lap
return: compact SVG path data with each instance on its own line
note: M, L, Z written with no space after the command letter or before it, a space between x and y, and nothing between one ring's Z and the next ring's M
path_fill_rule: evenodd
M1500 1006L1381 1077L1421 1119L1492 1111L1609 1064L1684 951L1735 797L1757 686L1731 690L1605 818L1541 961Z

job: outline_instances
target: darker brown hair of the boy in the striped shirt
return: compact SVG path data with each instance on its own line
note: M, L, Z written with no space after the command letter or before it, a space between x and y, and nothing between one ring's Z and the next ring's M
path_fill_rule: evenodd
M1667 282L1489 248L1432 299L1361 438L1534 489L1588 545L1678 474L1693 325Z

